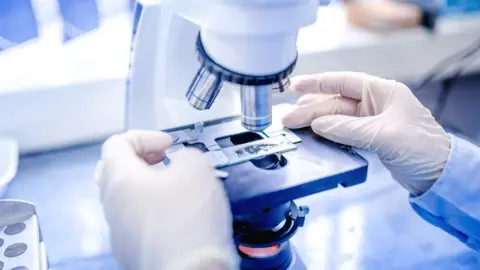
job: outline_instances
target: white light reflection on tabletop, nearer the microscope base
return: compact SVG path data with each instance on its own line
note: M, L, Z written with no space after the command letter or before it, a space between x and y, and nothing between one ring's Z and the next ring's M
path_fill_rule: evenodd
M331 238L334 232L334 224L329 217L318 217L312 219L306 228L304 228L304 241L306 253L302 259L309 269L323 270L329 269L329 249Z

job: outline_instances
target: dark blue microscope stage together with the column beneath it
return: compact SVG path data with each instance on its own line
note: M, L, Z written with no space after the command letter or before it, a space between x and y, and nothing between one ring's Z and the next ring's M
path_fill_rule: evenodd
M228 174L222 179L245 270L288 269L295 264L288 241L304 225L308 207L297 207L293 200L366 180L368 163L361 156L309 129L272 125L265 132L252 132L240 117L166 132L179 138L167 156L200 144L212 165Z

